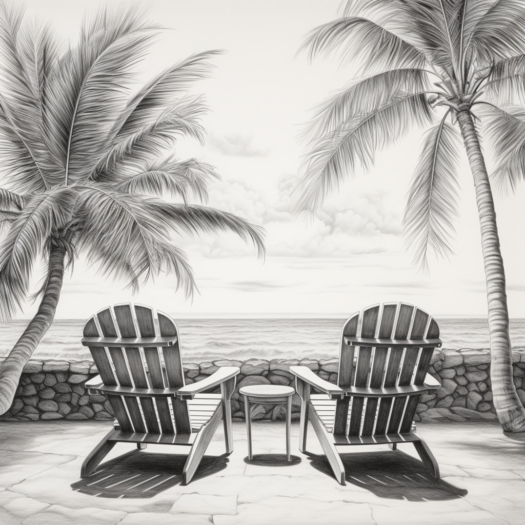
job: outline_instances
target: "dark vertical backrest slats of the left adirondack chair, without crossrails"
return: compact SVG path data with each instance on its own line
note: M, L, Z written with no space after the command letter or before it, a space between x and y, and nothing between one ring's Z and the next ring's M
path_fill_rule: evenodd
M93 361L105 385L134 388L179 388L184 372L177 325L169 316L157 312L159 334L155 333L152 308L142 304L116 304L103 308L84 325L84 337L152 338L172 337L172 346L162 348L104 348L89 346ZM175 397L108 395L123 432L169 434L191 432L185 402ZM153 400L155 403L153 403ZM156 410L155 410L156 407Z

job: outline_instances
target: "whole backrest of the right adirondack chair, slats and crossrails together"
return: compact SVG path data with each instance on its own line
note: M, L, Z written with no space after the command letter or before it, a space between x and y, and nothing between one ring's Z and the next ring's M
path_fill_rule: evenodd
M376 304L342 329L334 436L409 433L421 395L439 383L427 375L441 346L436 321L405 303Z

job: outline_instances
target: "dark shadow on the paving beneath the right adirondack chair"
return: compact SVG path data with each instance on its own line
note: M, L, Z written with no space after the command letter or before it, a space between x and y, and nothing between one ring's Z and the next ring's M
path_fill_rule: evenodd
M335 479L325 455L306 454L313 468ZM442 479L434 479L421 461L401 450L346 453L340 457L345 481L370 490L380 498L447 501L468 493Z

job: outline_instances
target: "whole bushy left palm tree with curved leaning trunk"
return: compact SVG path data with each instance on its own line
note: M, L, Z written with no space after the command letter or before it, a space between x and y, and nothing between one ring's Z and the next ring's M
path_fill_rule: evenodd
M209 75L218 51L130 90L159 31L136 5L101 9L83 23L76 47L62 46L49 26L25 23L23 10L0 2L0 319L26 300L35 261L46 265L38 312L0 366L0 414L79 256L102 275L127 279L133 291L140 279L173 273L191 296L192 270L172 234L233 231L264 255L258 227L188 203L207 200L216 174L173 153L177 137L203 140L206 107L188 89Z

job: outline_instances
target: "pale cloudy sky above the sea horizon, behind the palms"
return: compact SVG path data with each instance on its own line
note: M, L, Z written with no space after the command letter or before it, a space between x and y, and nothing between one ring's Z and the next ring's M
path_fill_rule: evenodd
M109 2L113 4L114 2ZM28 16L51 21L75 43L82 17L99 2L31 0ZM119 302L139 302L175 317L348 317L369 304L406 301L435 316L486 316L479 220L466 155L460 165L460 219L455 255L418 271L405 249L401 219L421 146L414 130L380 152L370 173L343 184L313 217L292 206L304 144L298 140L311 110L356 75L353 65L296 56L304 35L337 17L339 0L156 0L151 19L166 29L143 64L144 80L200 51L214 58L213 77L198 84L211 111L204 147L177 144L180 158L216 167L209 205L266 230L266 258L234 235L176 239L194 269L198 293L187 301L174 276L141 287L97 275L85 261L64 279L57 318L87 318ZM490 169L490 158L487 159ZM525 188L496 196L510 317L525 317L523 228ZM37 280L33 286L37 286ZM18 318L28 318L28 304Z

